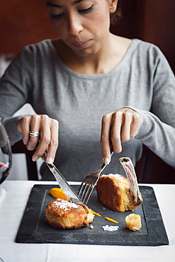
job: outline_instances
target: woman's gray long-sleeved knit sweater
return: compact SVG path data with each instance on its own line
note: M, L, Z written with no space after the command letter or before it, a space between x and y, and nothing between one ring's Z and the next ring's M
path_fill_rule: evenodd
M55 164L69 181L80 181L101 166L101 118L122 107L142 115L135 138L123 142L104 173L124 175L118 161L133 163L142 154L142 143L175 168L175 80L158 47L132 40L123 60L111 72L86 75L69 69L51 40L28 45L13 59L0 80L0 116L11 144L21 139L11 115L30 103L38 114L60 123ZM47 172L43 168L42 172Z

